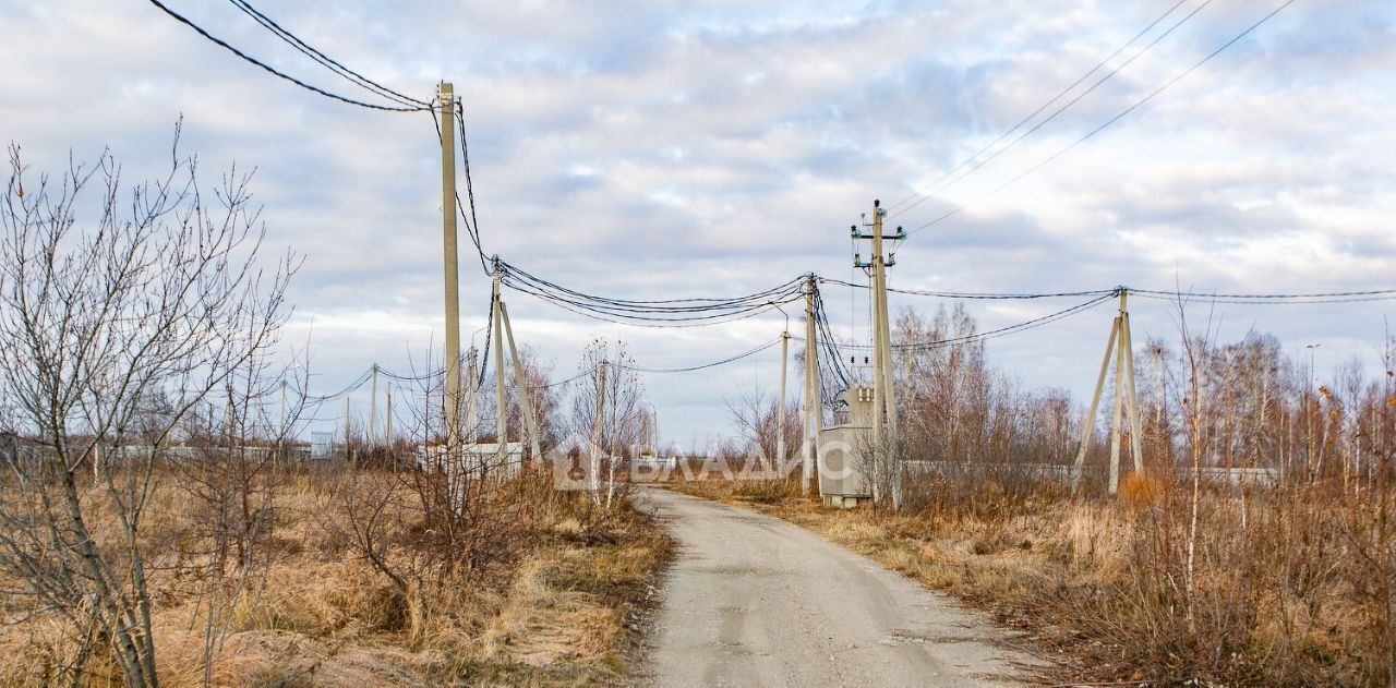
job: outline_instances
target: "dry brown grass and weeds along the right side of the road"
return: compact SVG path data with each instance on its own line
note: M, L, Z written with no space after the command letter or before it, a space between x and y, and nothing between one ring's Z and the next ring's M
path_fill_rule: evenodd
M1208 491L1189 593L1184 486L1134 479L1106 501L944 483L909 486L921 500L900 514L825 509L792 486L674 487L752 504L990 611L1034 636L1057 681L1388 685L1381 501Z

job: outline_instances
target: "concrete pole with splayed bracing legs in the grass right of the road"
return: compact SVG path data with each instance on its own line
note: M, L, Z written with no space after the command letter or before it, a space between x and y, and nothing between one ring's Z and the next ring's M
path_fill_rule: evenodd
M1106 354L1100 360L1100 374L1096 377L1096 391L1090 395L1090 410L1086 412L1085 423L1081 424L1081 444L1076 448L1076 462L1072 465L1071 481L1075 488L1081 488L1082 473L1086 466L1086 449L1090 448L1090 438L1096 430L1096 413L1100 410L1100 392L1106 387L1106 374L1110 371L1110 359L1114 356L1114 399L1111 406L1110 426L1110 494L1120 490L1120 444L1124 438L1125 426L1121 413L1128 413L1129 449L1134 456L1135 472L1143 470L1143 447L1139 431L1139 396L1134 378L1134 341L1129 334L1129 290L1118 289L1120 313L1110 325L1110 336L1106 339Z

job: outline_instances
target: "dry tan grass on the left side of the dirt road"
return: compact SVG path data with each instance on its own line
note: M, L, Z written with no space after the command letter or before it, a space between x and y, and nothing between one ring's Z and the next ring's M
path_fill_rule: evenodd
M327 494L310 476L283 488L269 568L226 617L214 685L627 681L638 632L631 620L651 603L651 582L671 550L648 514L628 502L603 512L577 494L558 494L530 514L530 532L505 574L402 594L355 554ZM159 497L148 522L161 569L154 576L158 671L165 685L202 685L205 610L194 581L176 565L193 546L198 516L176 488L162 487ZM49 615L0 627L7 657L0 685L46 685L54 657L70 645ZM89 674L88 685L120 684L106 657L89 663Z

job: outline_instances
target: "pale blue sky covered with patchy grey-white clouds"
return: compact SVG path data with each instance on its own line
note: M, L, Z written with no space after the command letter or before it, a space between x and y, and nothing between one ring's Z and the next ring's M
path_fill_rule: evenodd
M232 3L166 1L279 70L371 98ZM874 198L892 205L924 190L1173 8L1087 78L1128 61L1099 88L963 180L893 214L889 226L913 229L969 204L898 247L889 285L1396 287L1396 6L1388 1L1298 0L1033 170L1282 1L257 7L412 96L430 99L438 81L451 81L465 107L486 251L553 282L628 299L745 294L805 272L866 281L852 269L847 227ZM300 89L147 1L0 0L0 138L20 144L34 172L60 172L70 155L94 159L107 148L127 179L155 174L180 117L181 149L198 156L205 183L232 165L255 169L268 250L304 257L286 341L310 342L313 392L338 389L371 363L420 368L422 356L440 349L440 149L430 116ZM465 246L461 329L469 341L484 324L489 279ZM840 335L866 341L866 296L850 292L826 285L829 317ZM597 336L624 341L639 366L667 368L729 357L785 327L769 313L646 329L585 320L522 293L505 299L519 343L535 347L556 380L577 373ZM895 311L941 303L891 297ZM967 306L993 329L1074 303ZM1375 368L1392 304L1222 306L1216 315L1222 338L1270 332L1295 354L1321 343L1322 375L1351 356ZM1025 385L1081 399L1111 317L1099 307L994 339L988 352ZM1177 336L1167 304L1136 300L1131 320L1136 342ZM645 375L645 398L666 441L704 444L733 431L725 401L772 394L779 370L779 347L768 349L702 373ZM353 409L366 413L367 389ZM334 413L342 410L324 417Z

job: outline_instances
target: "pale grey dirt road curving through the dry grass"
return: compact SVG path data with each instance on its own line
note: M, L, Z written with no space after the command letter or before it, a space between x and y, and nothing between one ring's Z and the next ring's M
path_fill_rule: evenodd
M808 530L646 494L680 543L655 620L658 685L1005 685L1034 661L955 600Z

